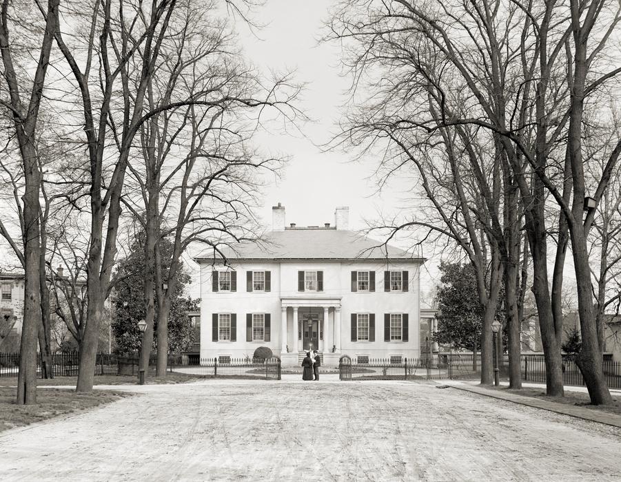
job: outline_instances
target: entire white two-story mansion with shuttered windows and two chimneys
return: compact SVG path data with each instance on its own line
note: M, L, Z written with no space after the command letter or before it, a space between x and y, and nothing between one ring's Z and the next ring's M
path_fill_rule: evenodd
M419 272L423 258L334 227L285 227L272 209L262 246L241 244L227 265L201 258L201 359L252 357L259 346L297 365L317 349L323 364L420 355Z

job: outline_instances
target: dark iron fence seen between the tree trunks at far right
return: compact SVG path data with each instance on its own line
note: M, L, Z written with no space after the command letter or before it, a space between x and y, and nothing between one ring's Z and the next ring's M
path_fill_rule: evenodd
M546 368L544 357L522 355L522 375L524 381L545 383ZM621 362L604 360L602 362L604 379L609 388L621 388ZM562 361L563 384L585 386L580 368L572 359L564 357Z

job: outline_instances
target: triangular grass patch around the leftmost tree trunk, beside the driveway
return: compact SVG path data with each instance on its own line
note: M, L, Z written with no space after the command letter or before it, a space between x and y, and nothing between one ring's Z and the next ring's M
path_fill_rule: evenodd
M76 393L73 390L45 388L37 390L36 405L17 405L17 388L0 387L0 432L59 415L88 410L131 395L109 390Z

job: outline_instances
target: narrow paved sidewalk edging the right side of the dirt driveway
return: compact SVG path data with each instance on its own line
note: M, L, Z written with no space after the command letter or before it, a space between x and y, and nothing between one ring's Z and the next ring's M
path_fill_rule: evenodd
M547 401L533 397L525 397L524 395L516 395L509 392L488 390L487 388L474 386L472 384L460 381L438 380L438 384L447 385L451 388L457 388L458 390L464 390L465 392L476 393L477 395L483 395L485 397L493 397L500 400L512 401L514 404L525 405L533 408L540 408L541 410L548 410L550 412L560 413L561 415L569 415L569 417L576 417L578 419L594 421L597 423L604 423L606 425L621 428L621 415L617 415L614 413L593 410L591 408L585 408L581 406L558 404L554 401Z

